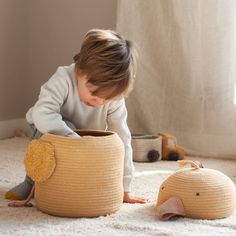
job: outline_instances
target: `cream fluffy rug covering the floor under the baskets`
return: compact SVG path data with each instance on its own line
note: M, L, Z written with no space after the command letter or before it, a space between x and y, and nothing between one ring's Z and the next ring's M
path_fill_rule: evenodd
M0 235L236 235L236 212L221 220L177 218L162 222L155 216L161 182L176 170L176 162L135 163L133 193L146 196L148 204L123 204L115 214L98 218L60 218L37 208L9 208L4 193L24 178L25 138L0 141ZM189 158L196 159L196 158ZM204 167L222 171L236 182L236 161L198 158Z

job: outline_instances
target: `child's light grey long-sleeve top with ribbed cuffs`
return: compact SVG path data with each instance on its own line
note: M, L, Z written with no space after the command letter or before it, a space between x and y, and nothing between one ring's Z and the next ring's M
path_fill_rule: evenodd
M80 100L74 68L74 64L59 67L42 85L38 101L27 112L26 120L41 133L69 137L78 137L78 134L63 120L72 122L77 129L111 130L118 133L125 146L124 192L130 192L134 166L125 100L111 101L99 107L87 106Z

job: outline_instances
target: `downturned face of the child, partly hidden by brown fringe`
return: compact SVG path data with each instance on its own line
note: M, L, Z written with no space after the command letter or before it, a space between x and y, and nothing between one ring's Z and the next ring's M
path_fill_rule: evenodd
M98 107L106 104L108 100L93 96L92 92L96 89L91 83L88 83L86 76L78 77L78 92L80 100L90 107Z

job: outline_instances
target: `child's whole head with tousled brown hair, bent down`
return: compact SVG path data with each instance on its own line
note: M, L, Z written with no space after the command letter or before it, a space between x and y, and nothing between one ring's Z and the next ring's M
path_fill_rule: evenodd
M74 61L80 97L87 105L102 105L131 91L136 70L136 50L131 41L117 32L90 30ZM88 90L87 93L84 89ZM95 102L95 98L97 101L100 99L100 104Z

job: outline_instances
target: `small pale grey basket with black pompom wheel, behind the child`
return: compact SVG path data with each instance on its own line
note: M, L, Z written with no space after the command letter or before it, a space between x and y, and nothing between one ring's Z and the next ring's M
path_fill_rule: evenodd
M149 154L156 152L156 161L162 158L162 137L159 135L132 134L133 160L137 162L150 161Z

